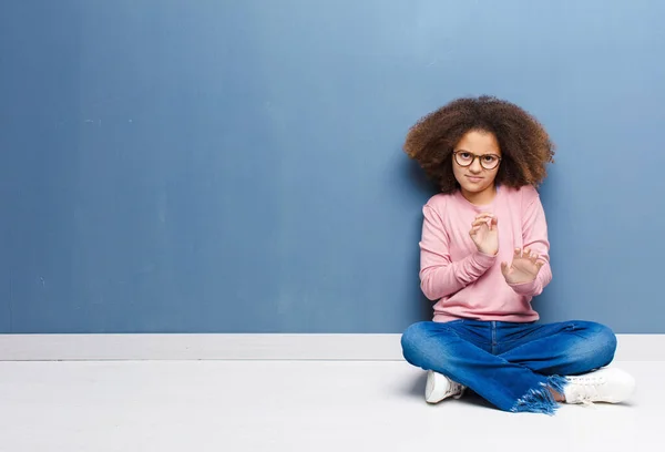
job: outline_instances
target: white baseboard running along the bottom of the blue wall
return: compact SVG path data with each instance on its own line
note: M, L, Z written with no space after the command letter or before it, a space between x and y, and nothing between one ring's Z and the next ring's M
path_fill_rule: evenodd
M665 335L617 335L616 361L665 361ZM0 361L403 360L400 335L0 335Z

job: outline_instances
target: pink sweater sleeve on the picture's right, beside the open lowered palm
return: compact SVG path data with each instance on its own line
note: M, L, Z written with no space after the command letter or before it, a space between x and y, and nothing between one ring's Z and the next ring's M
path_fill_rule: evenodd
M543 261L543 266L533 281L510 285L515 292L528 297L542 294L552 280L548 222L540 196L535 189L533 189L533 193L535 193L535 196L528 202L528 206L522 214L522 240L524 248L529 247L540 256L539 259Z

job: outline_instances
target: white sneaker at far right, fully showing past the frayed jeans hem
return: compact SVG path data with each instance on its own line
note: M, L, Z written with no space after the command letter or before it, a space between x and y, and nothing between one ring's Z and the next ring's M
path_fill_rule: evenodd
M626 400L635 389L635 379L627 372L614 368L566 377L566 380L569 384L563 390L566 403L618 403Z

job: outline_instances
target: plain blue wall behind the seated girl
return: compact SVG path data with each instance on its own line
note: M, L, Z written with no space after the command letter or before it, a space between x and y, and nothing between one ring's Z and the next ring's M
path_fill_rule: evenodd
M665 2L4 0L0 332L399 332L401 152L489 93L557 144L543 320L665 332Z

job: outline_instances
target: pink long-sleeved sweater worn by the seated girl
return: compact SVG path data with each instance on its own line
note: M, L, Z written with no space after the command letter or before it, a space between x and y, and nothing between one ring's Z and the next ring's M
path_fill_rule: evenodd
M478 250L469 229L481 212L498 217L499 254ZM420 242L422 292L434 305L434 321L459 318L525 322L539 319L531 307L552 279L548 224L540 196L532 186L500 186L487 206L469 203L457 191L432 196L422 208ZM514 248L531 247L545 261L532 282L509 285L501 261L511 263Z

